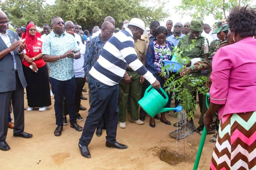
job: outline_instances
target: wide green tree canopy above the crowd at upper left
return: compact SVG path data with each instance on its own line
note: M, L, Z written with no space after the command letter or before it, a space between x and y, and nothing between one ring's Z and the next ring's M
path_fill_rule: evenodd
M148 26L152 20L162 21L169 16L163 9L164 0L157 0L153 7L142 4L146 4L145 0L56 0L53 5L45 0L5 0L0 8L15 27L26 26L29 20L42 27L44 23L50 24L54 16L60 16L64 21L79 23L83 29L92 29L101 26L106 16L112 16L120 28L122 21L134 17Z

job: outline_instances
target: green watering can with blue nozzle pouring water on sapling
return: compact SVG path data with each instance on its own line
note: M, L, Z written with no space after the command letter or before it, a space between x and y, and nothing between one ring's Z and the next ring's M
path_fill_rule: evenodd
M168 102L168 96L165 91L160 87L160 91L163 93L164 97L150 85L144 94L144 97L138 101L139 105L151 116L152 118L157 113L162 113L170 110L175 110L179 112L182 110L182 106L177 106L176 108L164 108Z

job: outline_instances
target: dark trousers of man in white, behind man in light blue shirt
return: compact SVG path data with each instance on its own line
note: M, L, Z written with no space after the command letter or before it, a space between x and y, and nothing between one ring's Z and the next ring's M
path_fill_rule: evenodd
M75 106L76 106L76 113L79 113L79 108L80 108L80 104L81 104L80 96L81 96L82 89L84 88L85 77L77 77L77 78L75 78L75 81L76 81L76 86L77 86L76 95L75 95ZM65 97L63 100L63 115L64 116L68 115L67 101L66 101Z

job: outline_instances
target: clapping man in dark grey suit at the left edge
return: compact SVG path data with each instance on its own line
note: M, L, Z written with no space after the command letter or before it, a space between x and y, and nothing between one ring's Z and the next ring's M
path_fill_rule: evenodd
M24 132L24 88L27 86L22 70L25 45L14 31L8 30L8 18L0 10L0 150L9 150L5 142L10 101L14 114L14 137L30 138Z

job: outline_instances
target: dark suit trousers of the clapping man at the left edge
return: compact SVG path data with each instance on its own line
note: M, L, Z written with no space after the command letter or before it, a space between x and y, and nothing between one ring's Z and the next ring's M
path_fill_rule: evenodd
M8 129L10 102L13 107L13 133L24 131L24 88L16 74L16 90L0 93L0 141L5 141Z

